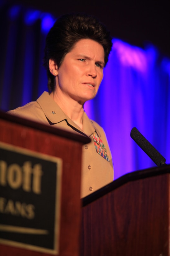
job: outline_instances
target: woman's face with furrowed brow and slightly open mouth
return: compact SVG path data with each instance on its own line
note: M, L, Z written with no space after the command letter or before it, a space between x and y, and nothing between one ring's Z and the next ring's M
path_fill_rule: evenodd
M103 67L103 46L91 39L81 39L66 54L59 69L56 66L57 94L81 104L93 99L103 78Z

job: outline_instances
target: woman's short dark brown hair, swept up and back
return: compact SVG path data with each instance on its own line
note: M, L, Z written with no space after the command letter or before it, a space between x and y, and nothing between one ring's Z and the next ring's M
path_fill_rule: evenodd
M103 46L106 65L112 49L112 38L110 32L96 17L87 14L66 14L54 23L46 38L43 64L47 70L49 92L53 91L55 86L54 76L48 67L49 59L53 59L59 68L76 42L86 38Z

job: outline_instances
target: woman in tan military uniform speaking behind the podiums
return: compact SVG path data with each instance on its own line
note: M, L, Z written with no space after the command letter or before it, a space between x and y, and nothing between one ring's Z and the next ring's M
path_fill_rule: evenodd
M83 108L97 94L111 48L110 34L96 18L82 14L60 17L46 39L49 92L8 112L91 138L82 151L81 197L113 181L106 135Z

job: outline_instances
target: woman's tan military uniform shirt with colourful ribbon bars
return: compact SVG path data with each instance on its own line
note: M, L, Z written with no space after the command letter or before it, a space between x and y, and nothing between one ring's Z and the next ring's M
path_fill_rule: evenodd
M44 93L37 101L8 111L11 115L42 122L70 132L87 135L91 142L82 149L81 197L98 190L113 181L112 156L101 126L83 113L83 131L78 127L49 96Z

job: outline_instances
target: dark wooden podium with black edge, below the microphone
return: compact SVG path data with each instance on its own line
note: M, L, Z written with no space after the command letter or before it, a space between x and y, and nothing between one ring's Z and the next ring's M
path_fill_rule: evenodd
M80 255L170 255L169 173L128 173L84 198Z

